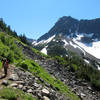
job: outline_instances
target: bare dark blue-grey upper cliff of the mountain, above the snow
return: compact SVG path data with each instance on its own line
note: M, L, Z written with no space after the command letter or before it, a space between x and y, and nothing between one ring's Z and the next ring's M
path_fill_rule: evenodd
M77 34L91 34L93 33L94 38L100 39L100 18L93 20L77 20L70 16L64 16L60 18L56 24L50 29L50 31L41 36L38 41L48 39L55 34L71 35Z

